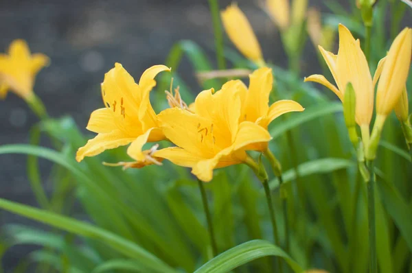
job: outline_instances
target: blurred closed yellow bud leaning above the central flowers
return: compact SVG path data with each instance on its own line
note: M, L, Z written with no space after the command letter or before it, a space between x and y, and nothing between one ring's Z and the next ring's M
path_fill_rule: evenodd
M238 8L238 5L232 3L220 15L227 35L239 51L256 64L264 64L258 39L246 16Z

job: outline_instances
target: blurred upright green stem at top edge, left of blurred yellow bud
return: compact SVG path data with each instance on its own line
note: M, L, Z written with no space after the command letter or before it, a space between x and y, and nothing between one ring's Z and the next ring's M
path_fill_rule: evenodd
M226 62L223 55L223 34L220 24L220 12L218 0L209 0L209 9L211 13L211 21L214 29L215 46L216 46L216 58L218 61L218 69L225 69Z

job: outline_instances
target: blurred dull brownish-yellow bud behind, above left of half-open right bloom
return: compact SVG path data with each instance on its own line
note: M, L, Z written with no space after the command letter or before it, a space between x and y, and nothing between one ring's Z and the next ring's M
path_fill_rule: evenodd
M331 51L334 44L335 29L328 25L322 26L321 12L316 8L308 10L308 22L306 25L309 38L312 44L317 47L320 45L326 51Z

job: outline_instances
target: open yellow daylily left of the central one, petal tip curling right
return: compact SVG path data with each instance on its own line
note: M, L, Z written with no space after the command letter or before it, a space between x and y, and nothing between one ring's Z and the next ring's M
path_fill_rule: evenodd
M104 75L102 97L106 107L93 111L87 124L87 130L98 135L80 147L76 154L78 162L84 156L95 156L129 143L133 144L133 158L146 161L141 147L146 142L165 139L149 97L156 85L154 78L161 71L170 69L164 65L146 69L139 84L119 63Z

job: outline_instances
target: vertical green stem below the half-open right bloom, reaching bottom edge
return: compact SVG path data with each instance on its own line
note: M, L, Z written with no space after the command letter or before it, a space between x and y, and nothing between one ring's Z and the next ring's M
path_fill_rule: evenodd
M367 183L367 214L369 221L369 272L376 273L376 228L375 228L375 174L374 161L368 161L370 179Z

